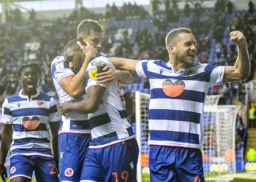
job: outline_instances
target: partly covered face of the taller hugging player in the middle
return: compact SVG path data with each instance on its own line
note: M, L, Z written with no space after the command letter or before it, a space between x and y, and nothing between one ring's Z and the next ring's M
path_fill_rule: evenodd
M82 37L83 40L88 41L90 45L98 50L102 48L103 33L97 31L91 31L89 36Z

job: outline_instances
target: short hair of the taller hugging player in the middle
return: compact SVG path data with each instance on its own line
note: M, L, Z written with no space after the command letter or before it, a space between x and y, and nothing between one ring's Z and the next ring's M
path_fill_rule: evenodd
M79 23L77 36L89 36L91 31L102 32L103 27L96 20L86 19Z

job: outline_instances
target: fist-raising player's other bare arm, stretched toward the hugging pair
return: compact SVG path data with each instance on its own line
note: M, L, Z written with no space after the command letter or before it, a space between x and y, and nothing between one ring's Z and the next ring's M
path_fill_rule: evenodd
M116 68L127 71L135 71L136 63L139 60L130 60L125 58L109 58Z

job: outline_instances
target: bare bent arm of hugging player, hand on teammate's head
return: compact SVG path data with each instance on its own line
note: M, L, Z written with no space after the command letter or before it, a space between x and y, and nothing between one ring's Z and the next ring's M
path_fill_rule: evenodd
M80 42L78 41L78 46L82 47L81 50L83 51L83 54L86 55L83 65L78 73L75 74L75 76L67 76L64 79L61 79L59 82L61 88L73 98L80 98L83 95L87 66L91 61L91 58L97 54L97 49L91 46L88 42L86 42L86 44L86 47L81 46Z

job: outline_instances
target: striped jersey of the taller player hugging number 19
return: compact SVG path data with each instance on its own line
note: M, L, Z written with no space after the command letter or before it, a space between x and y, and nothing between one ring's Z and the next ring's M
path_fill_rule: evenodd
M64 60L63 56L57 56L51 64L51 74L56 91L59 95L60 103L64 101L73 100L67 92L65 92L59 82L67 76L75 76L75 73L69 68L68 63ZM61 116L61 127L59 134L69 133L86 133L89 134L89 119L88 114L80 114L75 111L69 111L67 116Z

